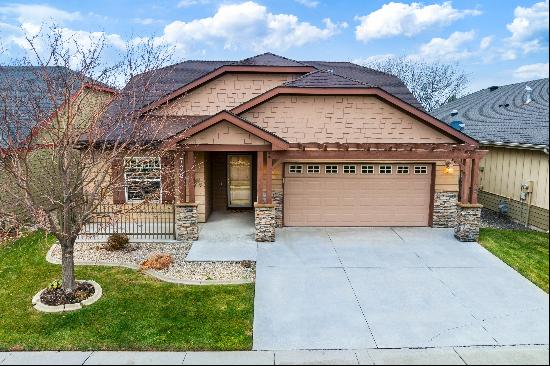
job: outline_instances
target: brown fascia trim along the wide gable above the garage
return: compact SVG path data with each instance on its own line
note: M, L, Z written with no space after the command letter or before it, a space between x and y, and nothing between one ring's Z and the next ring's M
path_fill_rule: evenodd
M236 115L241 115L242 113L263 104L279 95L372 95L376 96L386 103L402 110L403 112L416 117L420 122L434 128L435 130L443 133L446 136L453 138L459 143L465 143L472 146L477 146L478 142L468 136L467 134L455 130L445 122L434 118L428 113L411 106L403 102L401 99L396 96L386 92L385 90L378 87L355 87L355 88L325 88L325 87L290 87L290 86L279 86L273 88L255 98L250 99L248 102L245 102L231 110L232 113Z

